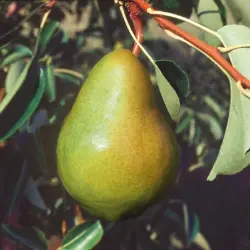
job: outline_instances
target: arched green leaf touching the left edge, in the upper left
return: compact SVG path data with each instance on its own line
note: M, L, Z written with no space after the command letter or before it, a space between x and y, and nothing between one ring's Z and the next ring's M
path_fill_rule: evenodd
M6 55L2 63L0 64L0 68L3 68L11 63L19 61L24 58L32 57L32 51L23 45L16 45L13 49L9 51Z

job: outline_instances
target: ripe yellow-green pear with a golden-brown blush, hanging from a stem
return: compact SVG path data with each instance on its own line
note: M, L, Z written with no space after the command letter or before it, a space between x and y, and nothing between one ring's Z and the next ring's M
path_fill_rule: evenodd
M68 193L109 221L137 215L168 192L179 147L131 51L112 51L93 67L62 125L57 162Z

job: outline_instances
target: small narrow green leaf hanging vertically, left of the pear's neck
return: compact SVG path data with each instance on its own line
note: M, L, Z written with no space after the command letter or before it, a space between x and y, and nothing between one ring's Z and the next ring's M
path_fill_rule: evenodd
M45 95L49 102L54 102L56 99L56 82L54 74L54 65L49 60L46 65L43 66L44 76L46 79L45 83Z

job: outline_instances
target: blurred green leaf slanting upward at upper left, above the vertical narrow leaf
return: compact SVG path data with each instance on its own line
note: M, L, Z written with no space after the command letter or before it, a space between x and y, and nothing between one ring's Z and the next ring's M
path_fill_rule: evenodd
M48 43L50 42L52 36L55 34L55 31L57 30L58 27L59 27L59 22L54 20L48 22L44 26L38 41L38 54L45 52Z

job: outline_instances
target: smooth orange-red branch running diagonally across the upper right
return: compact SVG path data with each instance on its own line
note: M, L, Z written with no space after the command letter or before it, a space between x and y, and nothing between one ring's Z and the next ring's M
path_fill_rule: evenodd
M131 0L131 1L133 1L137 6L139 6L146 13L149 8L153 10L152 6L148 4L145 0ZM133 11L133 9L130 9L130 11ZM154 15L154 19L158 22L158 24L163 29L171 31L175 35L185 39L186 41L188 41L195 47L199 48L201 51L205 52L214 61L216 61L225 71L227 71L236 82L240 81L243 88L250 89L250 81L246 77L244 77L240 72L238 72L226 59L224 59L216 47L213 47L199 40L198 38L188 34L184 30L182 30L180 27L170 22L165 17L163 18L163 17ZM136 33L139 33L139 32L142 32L141 28L140 30L136 31Z

